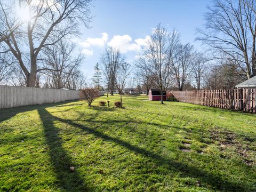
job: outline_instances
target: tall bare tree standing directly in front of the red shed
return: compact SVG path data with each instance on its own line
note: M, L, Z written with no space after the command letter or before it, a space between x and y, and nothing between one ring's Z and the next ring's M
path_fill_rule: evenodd
M170 34L159 24L150 35L143 53L146 60L145 68L153 78L154 87L161 93L162 104L163 93L167 91L171 82L171 61L178 41L179 35L175 30Z

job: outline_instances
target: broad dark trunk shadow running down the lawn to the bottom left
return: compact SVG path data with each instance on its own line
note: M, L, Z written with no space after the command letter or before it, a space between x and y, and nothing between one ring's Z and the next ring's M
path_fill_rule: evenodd
M59 136L59 130L53 123L56 119L44 107L39 107L37 110L43 123L51 162L58 178L58 187L61 191L88 191L79 173L70 170L71 166L77 166L62 147L63 141Z

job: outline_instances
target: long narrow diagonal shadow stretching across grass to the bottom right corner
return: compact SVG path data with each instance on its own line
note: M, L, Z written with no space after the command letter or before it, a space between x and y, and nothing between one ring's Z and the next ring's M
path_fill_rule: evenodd
M173 159L162 157L158 154L155 154L147 149L143 149L137 146L132 145L127 141L123 141L119 138L111 137L105 133L102 133L98 130L95 130L91 127L84 126L82 124L78 124L70 119L62 119L59 117L52 116L56 121L60 121L62 123L67 123L71 126L77 127L85 131L86 134L93 134L98 138L101 138L105 141L114 142L119 146L122 146L130 151L134 151L135 153L145 155L149 157L153 162L155 162L158 166L164 165L168 170L181 171L187 174L189 177L198 178L202 182L206 183L207 186L211 186L212 189L221 190L221 191L252 191L253 189L249 189L248 186L243 186L241 183L236 183L233 181L228 181L228 178L221 178L219 175L214 175L210 172L206 172L198 169L196 166L190 166L185 163L173 161Z

